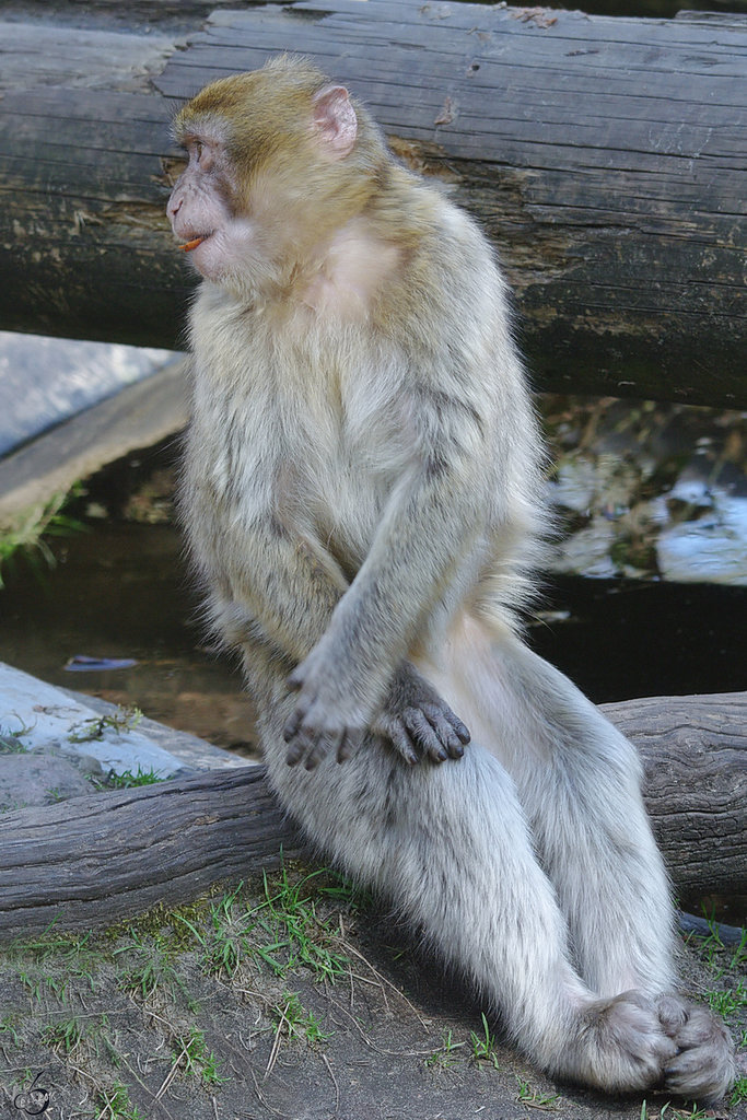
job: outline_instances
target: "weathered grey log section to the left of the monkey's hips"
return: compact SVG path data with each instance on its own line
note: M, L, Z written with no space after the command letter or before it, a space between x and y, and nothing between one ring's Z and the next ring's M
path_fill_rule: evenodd
M0 935L110 925L299 855L259 766L7 813Z

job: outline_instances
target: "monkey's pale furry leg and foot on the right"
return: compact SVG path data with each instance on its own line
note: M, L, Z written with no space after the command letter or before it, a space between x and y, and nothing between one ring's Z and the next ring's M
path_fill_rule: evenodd
M680 1052L669 1089L721 1095L734 1070L723 1024L664 995L674 982L673 908L635 749L513 636L495 640L469 623L450 659L450 687L438 684L516 783L585 981L603 997L635 989L654 1002Z

